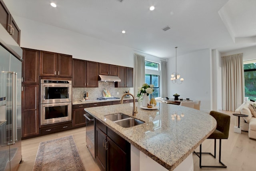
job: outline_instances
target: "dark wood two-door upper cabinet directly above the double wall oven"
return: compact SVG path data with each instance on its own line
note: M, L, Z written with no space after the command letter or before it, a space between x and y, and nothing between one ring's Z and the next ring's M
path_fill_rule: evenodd
M72 78L72 56L40 51L40 76Z

